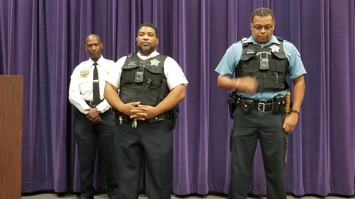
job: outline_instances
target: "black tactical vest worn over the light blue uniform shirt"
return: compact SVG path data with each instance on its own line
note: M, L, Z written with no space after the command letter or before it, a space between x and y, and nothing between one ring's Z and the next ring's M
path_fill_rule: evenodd
M237 64L235 76L255 76L259 83L257 91L289 89L286 75L289 72L290 63L283 48L283 39L276 38L280 44L271 43L263 48L253 44L253 42L243 44L243 51Z

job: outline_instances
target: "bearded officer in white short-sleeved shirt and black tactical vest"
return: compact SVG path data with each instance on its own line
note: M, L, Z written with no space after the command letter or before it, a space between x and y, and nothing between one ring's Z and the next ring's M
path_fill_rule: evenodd
M158 42L155 25L142 24L137 32L138 53L120 58L117 71L106 79L104 97L118 110L119 198L138 199L143 157L148 197L171 198L171 129L188 82L174 59L155 51Z

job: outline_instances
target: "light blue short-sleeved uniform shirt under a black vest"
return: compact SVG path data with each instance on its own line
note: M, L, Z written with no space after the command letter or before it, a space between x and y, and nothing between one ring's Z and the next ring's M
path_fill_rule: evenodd
M265 45L261 46L258 44L252 36L250 36L246 41L247 42L253 42L253 44L256 44L260 46L261 48L271 44L271 43L276 43L280 44L280 42L277 40L277 38L272 35L271 40L268 41ZM301 61L301 55L297 51L296 47L289 41L284 40L283 42L283 47L284 51L286 54L286 57L289 60L290 63L290 70L289 70L289 76L291 80L296 79L297 77L306 74L305 67L303 66L303 63ZM233 78L233 74L235 73L235 69L237 67L237 64L240 60L241 54L243 51L243 45L241 41L238 41L231 45L229 49L226 51L224 54L222 60L219 62L217 68L215 71L219 73L222 76L227 76L229 78ZM277 95L285 95L286 90L284 91L256 91L255 93L252 94L246 94L246 93L241 93L237 91L237 94L241 97L245 98L250 98L254 100L271 100Z

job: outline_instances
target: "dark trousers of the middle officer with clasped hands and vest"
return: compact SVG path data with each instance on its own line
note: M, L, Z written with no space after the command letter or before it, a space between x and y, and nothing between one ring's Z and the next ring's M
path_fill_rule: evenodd
M115 152L120 199L138 199L143 158L147 169L148 198L171 198L173 140L170 126L170 119L158 124L138 120L137 128L132 127L132 120L118 124Z

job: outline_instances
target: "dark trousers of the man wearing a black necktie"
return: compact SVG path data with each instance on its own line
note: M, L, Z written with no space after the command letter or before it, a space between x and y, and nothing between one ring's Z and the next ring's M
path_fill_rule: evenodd
M101 113L102 121L93 124L83 113L77 113L75 136L78 145L78 157L80 165L80 191L81 197L91 197L94 194L94 165L99 144L100 156L104 160L107 194L110 198L118 194L116 173L116 163L114 155L114 140L116 125L112 121L110 110ZM115 170L115 172L114 172Z

